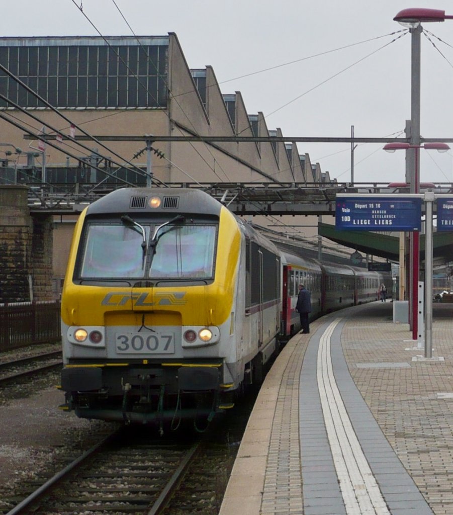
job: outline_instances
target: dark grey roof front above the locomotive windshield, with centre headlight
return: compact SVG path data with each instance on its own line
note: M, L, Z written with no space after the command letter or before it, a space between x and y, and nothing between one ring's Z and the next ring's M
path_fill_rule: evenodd
M159 208L150 208L149 199L159 197ZM197 213L220 215L222 204L207 193L192 188L119 188L96 200L86 214L108 213Z

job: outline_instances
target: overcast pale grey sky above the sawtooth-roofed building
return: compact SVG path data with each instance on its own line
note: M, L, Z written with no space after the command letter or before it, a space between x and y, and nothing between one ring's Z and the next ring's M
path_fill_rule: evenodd
M411 37L393 21L408 7L453 14L445 0L14 0L0 33L176 32L188 66L211 65L222 93L240 91L250 114L264 113L268 129L281 128L288 137L349 137L354 126L359 138L379 138L404 135L410 119ZM453 20L425 23L424 29L421 134L453 138ZM298 148L332 178L350 180L350 143ZM356 182L404 181L405 152L381 148L357 146ZM452 163L453 151L421 150L421 180L453 181Z

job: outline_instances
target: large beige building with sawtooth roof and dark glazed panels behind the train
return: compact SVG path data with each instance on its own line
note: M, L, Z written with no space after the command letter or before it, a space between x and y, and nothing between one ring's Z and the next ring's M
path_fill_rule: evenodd
M0 181L26 184L38 193L109 190L124 181L330 182L328 172L300 154L294 142L277 141L155 142L151 180L145 141L152 135L283 137L280 128L267 127L262 112L248 113L240 92L222 93L211 66L189 68L175 33L0 38L0 134L0 152L5 152ZM63 138L53 140L58 148L50 142L43 148L31 134L112 140L84 141L81 148ZM129 136L143 138L130 141ZM308 238L313 246L317 221L316 216L275 219L256 213L258 225ZM54 220L57 282L64 277L73 224L74 217Z

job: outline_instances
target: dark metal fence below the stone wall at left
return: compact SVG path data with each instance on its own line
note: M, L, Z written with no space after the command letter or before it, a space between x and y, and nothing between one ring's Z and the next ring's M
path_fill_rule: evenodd
M59 300L0 304L0 351L60 339Z

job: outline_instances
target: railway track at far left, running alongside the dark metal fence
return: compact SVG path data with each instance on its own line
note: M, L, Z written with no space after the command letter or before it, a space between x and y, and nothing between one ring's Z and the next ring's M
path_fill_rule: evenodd
M61 350L0 363L0 387L61 366Z

